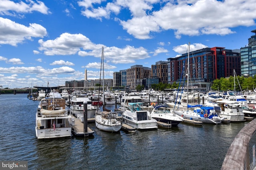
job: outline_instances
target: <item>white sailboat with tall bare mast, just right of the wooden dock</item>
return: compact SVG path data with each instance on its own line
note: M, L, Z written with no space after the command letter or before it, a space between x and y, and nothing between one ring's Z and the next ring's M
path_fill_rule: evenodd
M103 98L104 98L104 49L102 47L101 66L103 72ZM101 71L100 71L101 73ZM101 77L101 75L100 75ZM103 99L103 108L105 106ZM96 127L102 131L117 132L122 127L122 122L117 118L118 112L114 111L100 111L99 107L95 113Z

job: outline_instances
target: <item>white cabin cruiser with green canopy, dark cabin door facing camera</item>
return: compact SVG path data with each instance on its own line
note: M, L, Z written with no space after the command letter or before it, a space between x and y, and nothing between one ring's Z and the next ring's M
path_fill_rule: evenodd
M142 109L143 103L128 103L123 113L124 123L139 130L157 129L157 121L150 116L150 112Z

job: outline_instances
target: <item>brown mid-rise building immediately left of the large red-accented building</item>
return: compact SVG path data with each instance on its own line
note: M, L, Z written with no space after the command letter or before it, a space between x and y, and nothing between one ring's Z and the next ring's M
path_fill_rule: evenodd
M151 77L160 78L163 84L168 83L168 61L158 61L155 65L151 65Z

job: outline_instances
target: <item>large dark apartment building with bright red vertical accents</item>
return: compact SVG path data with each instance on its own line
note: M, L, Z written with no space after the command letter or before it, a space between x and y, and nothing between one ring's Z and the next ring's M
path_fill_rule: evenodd
M209 89L213 80L234 76L240 71L240 53L224 47L204 48L190 52L190 86ZM183 82L187 72L188 53L168 59L168 84Z

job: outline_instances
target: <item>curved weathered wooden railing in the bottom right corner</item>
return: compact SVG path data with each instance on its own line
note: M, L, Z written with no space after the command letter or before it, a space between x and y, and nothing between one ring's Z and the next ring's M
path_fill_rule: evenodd
M221 170L256 168L255 143L256 119L248 123L236 135L222 163Z

